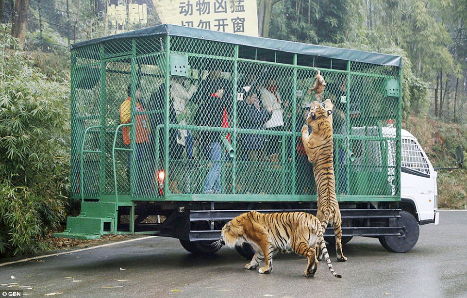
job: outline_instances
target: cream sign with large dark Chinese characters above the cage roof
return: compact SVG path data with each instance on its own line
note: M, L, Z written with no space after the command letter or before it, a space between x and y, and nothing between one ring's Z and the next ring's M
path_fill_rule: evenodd
M153 0L162 23L258 36L254 0Z

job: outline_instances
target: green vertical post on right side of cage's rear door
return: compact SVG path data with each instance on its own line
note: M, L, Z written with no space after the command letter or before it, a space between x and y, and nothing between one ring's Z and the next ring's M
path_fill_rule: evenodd
M130 134L130 149L131 151L131 159L130 159L130 194L134 196L135 193L135 187L138 187L138 185L135 183L135 147L136 147L136 64L135 64L135 56L136 56L136 48L135 48L135 41L132 39L132 48L133 48L133 54L132 54L132 60L131 60L131 73L130 73L130 85L131 85L131 102L130 102L130 121L133 123L131 126L131 134ZM141 175L141 173L138 173ZM117 201L118 205L118 201Z

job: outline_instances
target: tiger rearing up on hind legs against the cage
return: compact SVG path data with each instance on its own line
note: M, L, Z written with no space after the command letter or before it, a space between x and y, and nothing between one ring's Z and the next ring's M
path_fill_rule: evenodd
M317 185L318 211L323 231L328 223L334 229L337 260L347 261L342 252L342 218L335 194L333 155L333 108L331 99L326 99L324 108L317 101L311 104L306 124L301 129L301 138L308 160L313 163L313 174ZM308 126L312 133L308 134ZM317 249L319 251L319 248ZM320 253L318 252L318 258Z

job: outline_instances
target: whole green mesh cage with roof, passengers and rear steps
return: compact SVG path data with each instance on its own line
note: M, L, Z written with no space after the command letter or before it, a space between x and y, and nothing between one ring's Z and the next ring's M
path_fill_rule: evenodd
M137 202L316 201L300 139L316 69L334 102L338 200L400 200L401 66L174 25L74 44L71 190L83 203L68 235L117 233L117 212L133 233Z

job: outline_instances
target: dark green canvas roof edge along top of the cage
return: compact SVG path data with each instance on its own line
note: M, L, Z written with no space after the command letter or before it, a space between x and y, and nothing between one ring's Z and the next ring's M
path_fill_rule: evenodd
M278 50L290 53L297 53L310 56L326 57L332 59L350 60L355 62L364 62L384 66L402 67L400 56L387 55L362 50L349 50L335 47L325 47L311 44L304 44L292 41L270 39L264 37L253 37L238 35L234 33L224 33L212 30L184 27L178 25L162 24L135 31L119 33L101 38L91 39L73 44L71 50L78 49L88 45L100 44L106 41L148 37L154 35L172 35L190 38L199 38L212 41L226 42L236 45L243 45L268 50Z

